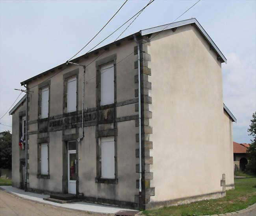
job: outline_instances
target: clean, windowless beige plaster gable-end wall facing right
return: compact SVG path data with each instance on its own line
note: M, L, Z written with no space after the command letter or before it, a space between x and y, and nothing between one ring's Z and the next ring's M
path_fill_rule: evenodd
M154 174L150 187L155 187L151 202L222 191L222 74L209 48L191 25L163 31L148 46Z

